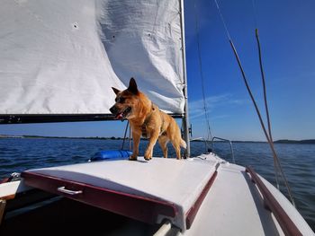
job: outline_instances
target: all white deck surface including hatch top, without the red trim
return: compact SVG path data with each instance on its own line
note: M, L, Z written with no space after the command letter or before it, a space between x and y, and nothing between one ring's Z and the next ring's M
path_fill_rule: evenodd
M186 214L218 165L217 177L186 230ZM213 154L189 161L153 158L149 162L90 162L29 171L174 203L178 214L170 221L183 235L284 235L245 168ZM293 205L261 179L300 232L314 235Z

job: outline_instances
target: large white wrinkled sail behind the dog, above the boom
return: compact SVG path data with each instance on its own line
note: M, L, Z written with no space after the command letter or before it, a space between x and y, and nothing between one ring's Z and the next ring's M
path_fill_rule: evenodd
M0 114L108 114L111 87L184 111L178 0L1 0Z

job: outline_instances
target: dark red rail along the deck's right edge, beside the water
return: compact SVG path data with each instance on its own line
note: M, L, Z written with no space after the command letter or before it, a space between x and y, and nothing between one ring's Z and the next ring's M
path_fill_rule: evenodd
M268 188L266 188L266 185L263 183L263 181L257 176L255 170L253 170L251 167L247 167L246 171L249 172L251 179L257 184L257 188L263 195L267 207L272 211L273 214L275 214L275 218L283 229L284 234L294 236L302 235L288 214L284 212L284 208L278 203L272 193L268 190Z

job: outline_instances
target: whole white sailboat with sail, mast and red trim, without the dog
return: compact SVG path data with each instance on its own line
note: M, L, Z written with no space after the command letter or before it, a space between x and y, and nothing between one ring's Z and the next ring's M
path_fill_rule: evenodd
M250 167L189 145L183 0L2 1L0 123L112 120L137 78L183 119L186 158L25 170L0 184L0 233L314 235Z

